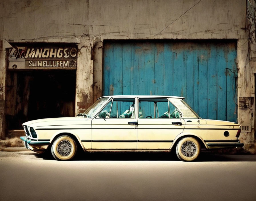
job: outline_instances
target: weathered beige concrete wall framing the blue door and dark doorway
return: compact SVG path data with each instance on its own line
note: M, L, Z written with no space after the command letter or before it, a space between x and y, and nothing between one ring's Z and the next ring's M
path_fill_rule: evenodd
M256 67L247 57L246 0L2 0L0 7L3 41L78 44L76 113L102 94L105 39L237 39L238 97L255 97ZM3 51L0 60L4 89ZM248 146L255 143L254 116L255 101L253 109L238 109L238 122L252 125L252 133L241 134Z

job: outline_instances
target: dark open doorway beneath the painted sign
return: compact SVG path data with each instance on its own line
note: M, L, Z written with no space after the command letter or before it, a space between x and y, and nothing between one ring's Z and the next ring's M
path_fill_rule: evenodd
M76 71L9 71L7 130L40 118L74 116Z

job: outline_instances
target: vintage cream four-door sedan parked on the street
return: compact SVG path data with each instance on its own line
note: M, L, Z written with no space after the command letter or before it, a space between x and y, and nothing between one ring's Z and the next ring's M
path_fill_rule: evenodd
M241 147L240 125L200 118L174 96L105 96L76 117L25 122L26 148L57 160L84 151L171 151L195 160L202 148Z

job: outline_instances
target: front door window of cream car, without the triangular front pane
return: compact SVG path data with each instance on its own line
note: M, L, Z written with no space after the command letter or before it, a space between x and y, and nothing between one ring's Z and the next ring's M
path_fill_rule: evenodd
M134 118L135 99L116 98L113 99L110 118Z

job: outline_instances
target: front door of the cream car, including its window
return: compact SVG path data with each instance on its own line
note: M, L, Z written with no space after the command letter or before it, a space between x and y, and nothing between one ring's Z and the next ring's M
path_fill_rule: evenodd
M114 98L92 120L92 149L136 149L135 98Z

